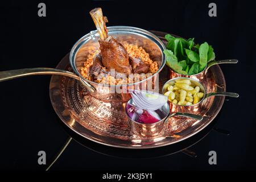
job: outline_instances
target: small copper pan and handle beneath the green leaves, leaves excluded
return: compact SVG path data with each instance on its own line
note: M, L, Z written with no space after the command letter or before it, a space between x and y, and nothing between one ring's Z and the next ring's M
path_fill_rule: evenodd
M208 69L216 64L236 64L238 63L238 60L236 59L227 59L227 60L220 60L220 61L210 61L207 66L204 68L203 71L200 73L197 73L195 75L181 75L180 73L175 72L170 68L170 78L176 78L176 77L187 77L187 78L193 78L197 81L202 82L204 79L204 76L207 74Z

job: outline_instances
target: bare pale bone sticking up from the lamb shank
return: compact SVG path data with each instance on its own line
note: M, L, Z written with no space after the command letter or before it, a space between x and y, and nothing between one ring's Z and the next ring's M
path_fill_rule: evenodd
M108 29L106 28L106 22L108 22L108 19L106 16L103 16L101 8L96 7L95 9L91 10L90 15L92 16L98 33L100 34L101 40L108 38Z

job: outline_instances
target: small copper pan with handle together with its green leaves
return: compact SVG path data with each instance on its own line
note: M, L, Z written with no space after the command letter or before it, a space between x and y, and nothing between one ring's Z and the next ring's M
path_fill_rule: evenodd
M166 64L171 68L170 78L188 77L203 81L208 69L216 64L236 64L238 60L215 60L213 47L207 42L196 44L193 39L176 38L170 34L165 36L168 41Z

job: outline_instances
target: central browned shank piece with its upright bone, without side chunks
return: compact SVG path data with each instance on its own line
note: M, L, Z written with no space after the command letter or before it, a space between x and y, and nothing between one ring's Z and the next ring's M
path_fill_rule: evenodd
M106 28L107 19L102 15L101 8L90 11L90 15L100 34L100 53L101 62L107 69L115 69L115 72L131 73L131 65L129 63L129 55L122 44L118 43L112 36L108 37L108 29Z

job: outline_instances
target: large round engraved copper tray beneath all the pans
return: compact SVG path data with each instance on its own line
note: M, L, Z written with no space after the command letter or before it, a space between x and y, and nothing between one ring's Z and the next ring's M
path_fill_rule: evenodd
M164 32L152 31L164 42ZM72 71L66 55L56 67ZM160 85L168 80L165 68L159 75ZM218 65L211 67L203 82L207 92L225 91L225 78ZM160 88L161 90L162 88ZM198 111L204 116L201 122L187 118L172 118L164 129L170 137L138 137L131 133L125 113L125 102L103 102L90 96L76 80L52 76L49 85L52 106L61 121L82 137L107 146L120 148L154 148L185 140L203 130L220 111L225 97L210 97Z

